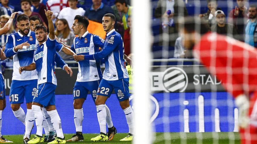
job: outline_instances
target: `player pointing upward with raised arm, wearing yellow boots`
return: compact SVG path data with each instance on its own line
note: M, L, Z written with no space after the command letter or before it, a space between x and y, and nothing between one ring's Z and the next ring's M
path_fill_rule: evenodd
M38 73L38 93L34 96L32 102L32 110L35 115L37 133L33 139L28 141L28 144L44 142L42 134L42 106L46 107L47 113L51 118L51 122L53 123L53 127L57 134L55 140L48 144L66 143L62 132L61 120L55 107L55 89L57 86L57 80L54 74L54 57L55 52L57 50L61 51L63 48L56 47L55 44L54 26L51 19L53 12L45 10L45 14L48 19L49 34L47 33L45 26L41 24L36 26L35 35L39 43L36 45L33 63L19 68L20 74L22 74L23 71L27 72L33 70L37 70Z

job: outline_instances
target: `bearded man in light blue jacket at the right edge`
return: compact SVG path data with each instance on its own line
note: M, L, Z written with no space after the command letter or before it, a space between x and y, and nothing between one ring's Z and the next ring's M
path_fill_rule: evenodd
M249 7L249 20L245 27L245 43L257 48L257 5Z

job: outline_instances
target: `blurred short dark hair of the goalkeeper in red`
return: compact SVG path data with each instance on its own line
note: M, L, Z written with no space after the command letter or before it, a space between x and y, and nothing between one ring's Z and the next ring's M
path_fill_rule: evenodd
M179 19L179 26L184 27L184 29L189 33L199 33L205 34L210 31L210 26L208 22L200 19L199 17L184 17Z

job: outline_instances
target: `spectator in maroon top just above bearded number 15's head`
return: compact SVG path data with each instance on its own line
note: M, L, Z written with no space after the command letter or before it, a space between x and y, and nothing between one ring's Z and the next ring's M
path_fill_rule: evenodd
M43 24L46 28L48 28L48 26L46 25L46 23L44 22L44 20L42 19L42 17L39 15L39 13L32 12L32 11L30 10L30 7L31 7L31 2L30 2L30 0L21 0L21 1L20 1L20 5L21 5L21 9L23 10L23 13L24 13L25 15L27 15L28 17L32 17L33 15L39 16L39 18L41 19L42 24ZM15 24L15 29L16 29L16 31L18 31L18 28L17 28L16 24Z

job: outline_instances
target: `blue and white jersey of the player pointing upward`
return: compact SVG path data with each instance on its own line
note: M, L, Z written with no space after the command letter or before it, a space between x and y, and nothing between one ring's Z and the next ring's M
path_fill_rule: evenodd
M61 51L62 48L63 46L57 47L56 40L51 40L48 36L45 42L36 45L33 62L36 64L38 73L38 85L46 82L57 85L54 58L56 51Z

